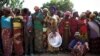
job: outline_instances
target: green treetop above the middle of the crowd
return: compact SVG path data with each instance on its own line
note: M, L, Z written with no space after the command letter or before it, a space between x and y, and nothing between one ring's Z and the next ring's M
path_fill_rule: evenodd
M73 8L73 4L70 0L51 0L50 2L43 4L42 8L50 8L51 6L56 6L58 10L62 11L72 11Z

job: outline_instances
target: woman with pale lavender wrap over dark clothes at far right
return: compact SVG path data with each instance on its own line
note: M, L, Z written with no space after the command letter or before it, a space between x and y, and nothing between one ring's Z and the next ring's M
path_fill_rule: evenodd
M90 21L88 22L89 30L89 46L92 53L100 52L100 28L94 22L95 14L90 14Z

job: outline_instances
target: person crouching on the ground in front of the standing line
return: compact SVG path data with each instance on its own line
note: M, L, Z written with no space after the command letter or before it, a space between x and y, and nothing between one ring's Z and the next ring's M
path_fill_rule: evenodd
M75 33L75 39L73 39L69 44L69 49L73 56L85 56L86 52L89 50L88 42L82 41L80 38L80 33Z

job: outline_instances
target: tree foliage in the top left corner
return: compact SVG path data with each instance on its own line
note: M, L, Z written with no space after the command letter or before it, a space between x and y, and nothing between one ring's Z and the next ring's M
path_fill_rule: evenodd
M0 8L8 6L11 8L22 8L24 0L0 0Z

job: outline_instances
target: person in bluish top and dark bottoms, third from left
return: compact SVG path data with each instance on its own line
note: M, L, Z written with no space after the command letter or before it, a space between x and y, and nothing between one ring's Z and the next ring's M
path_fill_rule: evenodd
M24 45L25 45L25 56L33 56L33 34L31 31L31 17L28 8L23 8L21 11L23 17L23 27L24 27ZM29 51L30 50L30 51Z

